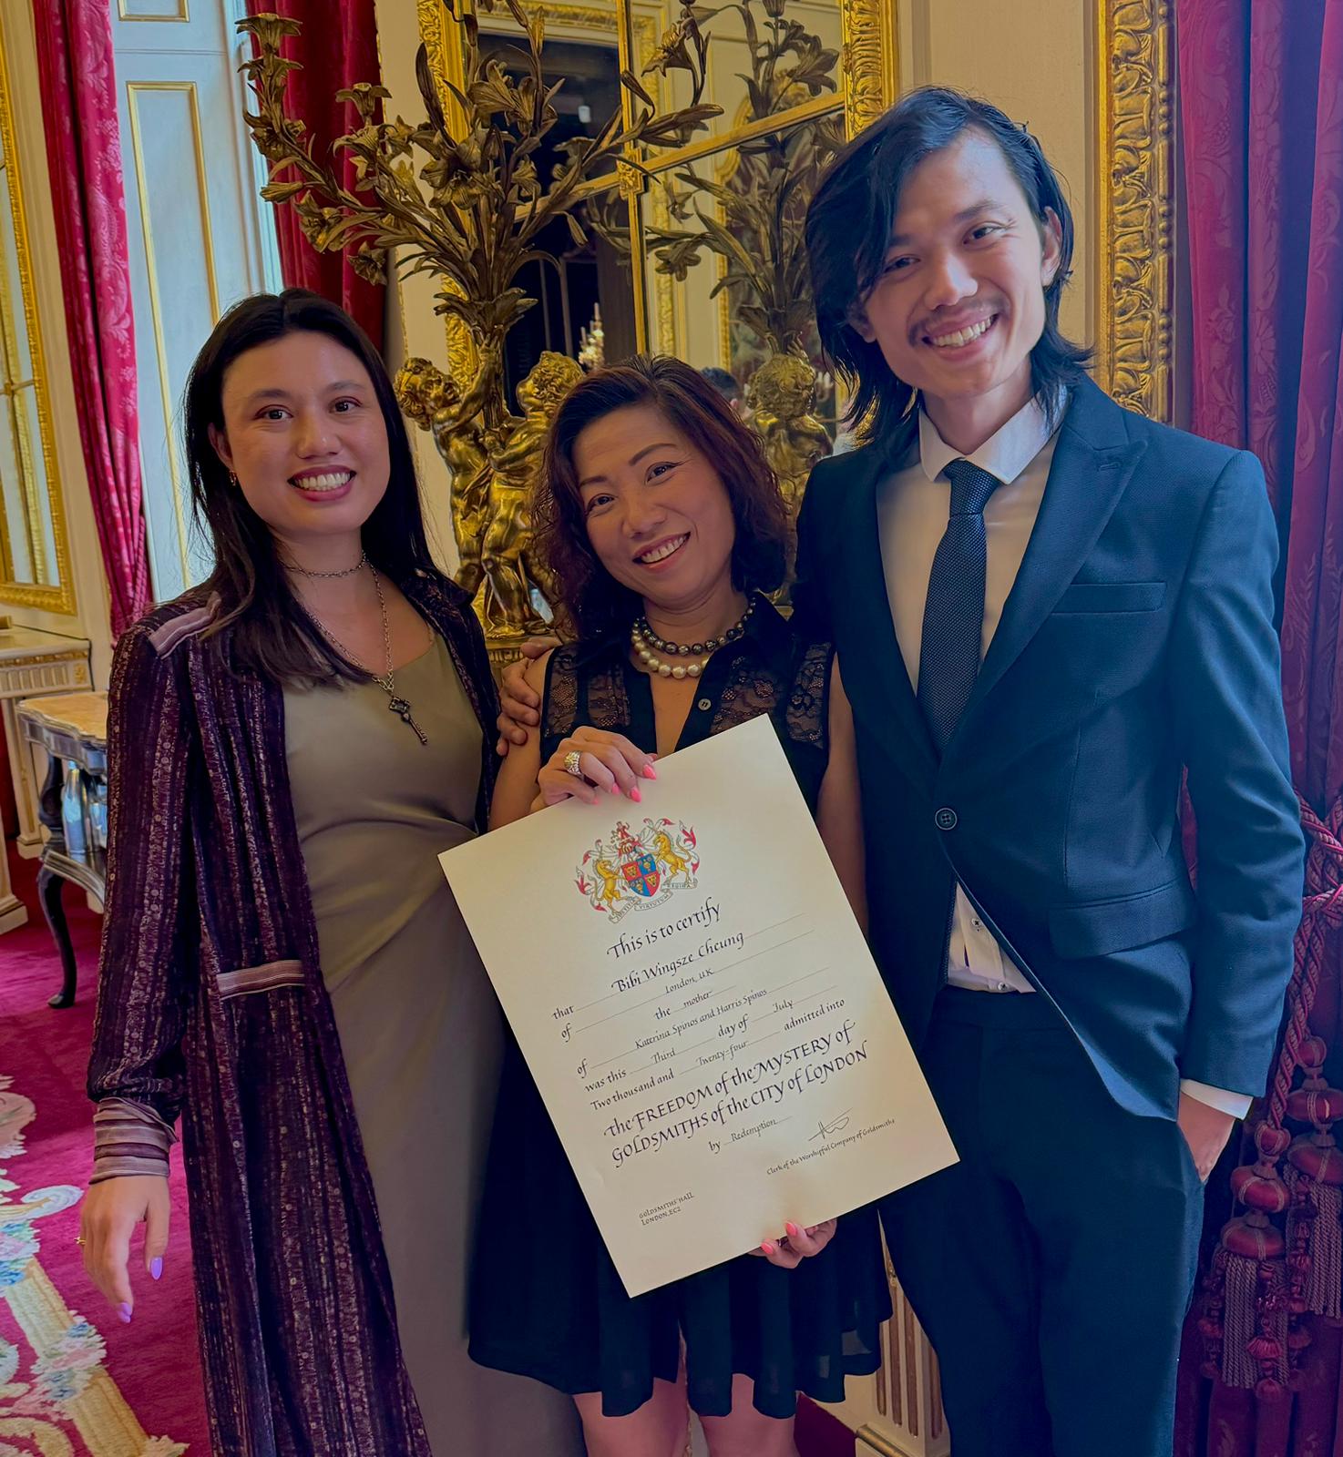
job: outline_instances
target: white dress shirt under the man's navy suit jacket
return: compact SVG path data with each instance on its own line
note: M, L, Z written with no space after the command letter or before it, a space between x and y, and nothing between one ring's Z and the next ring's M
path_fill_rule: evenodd
M951 514L951 485L943 474L946 466L952 460L967 459L1002 481L984 507L987 551L984 631L980 643L983 659L1035 529L1056 443L1057 431L1050 428L1044 409L1034 398L978 450L964 457L942 439L932 420L923 411L919 412L919 457L890 476L878 495L887 596L900 654L916 692L927 581ZM1034 986L978 918L961 886L957 886L946 976L954 986L971 991L1034 992ZM1235 1118L1244 1118L1250 1107L1250 1099L1242 1093L1228 1093L1188 1078L1180 1087L1199 1101Z

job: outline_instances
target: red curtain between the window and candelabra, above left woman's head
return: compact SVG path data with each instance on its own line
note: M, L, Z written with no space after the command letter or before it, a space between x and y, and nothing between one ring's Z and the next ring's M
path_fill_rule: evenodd
M267 12L303 23L302 34L284 45L286 58L303 67L289 73L289 109L306 124L312 154L324 162L331 157L331 143L360 125L359 112L347 102L337 102L335 93L356 82L376 83L379 77L373 0L248 0L248 15ZM353 186L350 157L338 157L337 165L343 169L343 184ZM341 305L381 350L386 290L365 283L344 254L316 252L287 204L276 207L276 230L284 283L312 288Z

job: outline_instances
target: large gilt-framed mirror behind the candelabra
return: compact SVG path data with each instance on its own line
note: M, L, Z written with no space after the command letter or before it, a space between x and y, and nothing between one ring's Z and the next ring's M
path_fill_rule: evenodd
M728 369L748 385L782 345L742 322L761 303L752 283L782 275L787 262L761 256L764 224L757 216L752 227L752 208L767 210L787 188L782 220L801 242L793 230L809 197L808 169L894 99L895 7L881 0L704 6L703 55L684 35L677 0L545 0L528 10L545 17L547 76L564 82L557 105L570 134L599 125L612 105L637 105L628 92L621 96L621 70L637 77L658 112L688 105L696 79L698 99L719 111L688 144L643 147L637 170L612 168L586 188L589 239L579 246L558 239L561 267L534 270L540 306L510 337L510 382L541 350L583 357L596 323L607 360L655 350ZM477 19L484 44L496 45L507 67L518 25L503 7L481 9ZM420 34L445 89L459 85L461 29L440 0L420 0ZM690 52L690 70L663 64L678 45ZM691 235L701 235L700 246ZM755 280L745 259L761 265Z

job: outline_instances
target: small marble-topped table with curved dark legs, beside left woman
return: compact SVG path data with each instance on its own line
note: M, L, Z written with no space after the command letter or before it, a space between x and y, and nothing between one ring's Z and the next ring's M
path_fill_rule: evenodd
M108 695L26 698L17 721L28 743L47 750L47 782L38 816L47 830L38 896L61 954L61 989L52 1007L74 1002L76 965L61 905L67 880L104 898L108 851Z

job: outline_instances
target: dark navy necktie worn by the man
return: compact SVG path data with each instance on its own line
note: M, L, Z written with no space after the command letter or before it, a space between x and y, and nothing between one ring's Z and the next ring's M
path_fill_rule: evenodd
M980 672L984 634L984 506L1002 484L968 460L952 460L951 517L927 578L919 705L938 749L955 733Z

